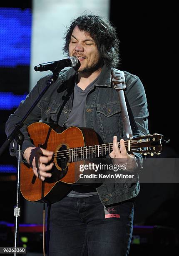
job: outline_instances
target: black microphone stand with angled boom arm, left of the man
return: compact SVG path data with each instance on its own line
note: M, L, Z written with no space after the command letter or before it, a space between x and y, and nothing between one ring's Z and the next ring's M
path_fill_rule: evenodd
M62 69L62 68L61 68ZM60 70L61 70L60 69ZM14 228L14 248L18 247L19 244L19 220L20 220L20 161L22 156L22 143L24 141L24 135L21 133L20 128L24 125L24 121L27 119L28 115L31 113L31 111L35 108L39 100L42 98L42 96L45 94L45 92L48 90L50 85L54 82L56 82L60 70L57 71L57 69L51 70L53 73L53 76L46 81L47 86L45 89L41 92L39 97L35 100L33 105L30 107L30 109L27 111L25 116L22 118L20 122L18 122L15 125L15 129L12 131L10 136L8 136L5 140L5 142L2 144L0 148L0 155L3 151L5 151L5 148L9 146L10 142L12 140L16 140L17 142L17 152L18 152L18 158L17 158L17 190L16 190L16 206L14 207L14 217L15 217L15 228ZM14 255L17 255L16 252Z

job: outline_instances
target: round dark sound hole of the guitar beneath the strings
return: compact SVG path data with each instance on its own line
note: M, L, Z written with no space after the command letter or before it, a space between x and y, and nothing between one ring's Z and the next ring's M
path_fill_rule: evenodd
M66 169L68 164L68 150L66 145L62 145L57 153L57 165L62 169Z

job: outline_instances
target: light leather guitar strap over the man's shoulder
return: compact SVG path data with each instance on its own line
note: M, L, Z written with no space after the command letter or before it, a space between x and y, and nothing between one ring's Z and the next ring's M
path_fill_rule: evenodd
M133 132L136 132L137 125L135 123L134 116L132 114L132 110L129 105L129 101L127 100L127 97L124 93L124 90L126 89L124 72L120 70L112 69L111 80L112 80L112 85L114 86L114 89L117 90L118 92L121 113L122 113L123 127L126 133L126 137L127 139L132 139L133 137L132 130ZM129 114L127 110L129 111ZM131 129L130 122L132 123L132 129Z

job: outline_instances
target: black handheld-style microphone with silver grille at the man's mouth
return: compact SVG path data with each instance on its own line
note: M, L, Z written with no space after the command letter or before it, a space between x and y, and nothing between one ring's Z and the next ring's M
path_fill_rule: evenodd
M47 71L47 70L55 70L60 71L64 69L65 67L77 67L79 65L80 61L76 57L69 57L68 59L62 59L59 61L52 61L47 63L39 64L38 66L35 66L35 71Z

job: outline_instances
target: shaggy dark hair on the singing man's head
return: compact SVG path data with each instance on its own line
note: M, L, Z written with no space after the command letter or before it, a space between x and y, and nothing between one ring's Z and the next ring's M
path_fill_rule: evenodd
M68 46L75 26L90 34L97 45L100 57L108 67L118 66L120 60L119 40L116 30L109 20L93 14L81 15L72 20L64 36L65 44L62 49L66 54L69 54Z

